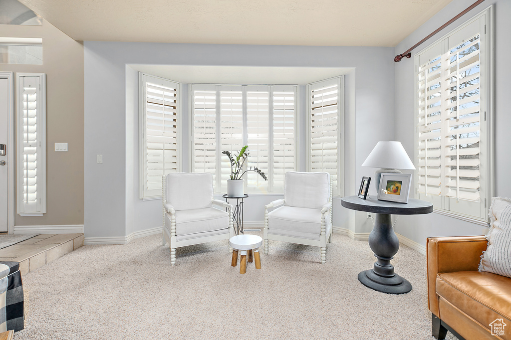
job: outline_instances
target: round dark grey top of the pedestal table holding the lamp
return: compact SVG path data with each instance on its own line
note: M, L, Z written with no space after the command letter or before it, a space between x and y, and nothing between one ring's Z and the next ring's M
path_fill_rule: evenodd
M416 215L429 214L433 204L427 201L408 199L408 203L379 201L376 198L362 200L358 196L341 198L341 205L348 209L374 212L377 214Z

